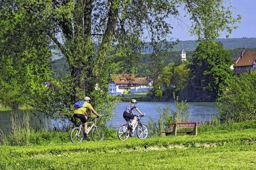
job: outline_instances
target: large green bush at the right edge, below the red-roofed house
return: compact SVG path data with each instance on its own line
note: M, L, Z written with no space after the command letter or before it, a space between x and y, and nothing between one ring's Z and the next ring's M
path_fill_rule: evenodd
M226 92L218 98L222 121L256 119L256 72L246 72L229 80Z

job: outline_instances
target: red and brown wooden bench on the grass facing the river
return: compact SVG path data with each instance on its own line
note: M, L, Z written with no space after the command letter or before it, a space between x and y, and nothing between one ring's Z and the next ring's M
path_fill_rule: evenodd
M197 135L197 127L199 126L200 122L189 122L189 123L170 123L171 132L162 132L165 135L177 135L177 133L187 133L188 135ZM193 128L192 131L177 131L177 129L181 128Z

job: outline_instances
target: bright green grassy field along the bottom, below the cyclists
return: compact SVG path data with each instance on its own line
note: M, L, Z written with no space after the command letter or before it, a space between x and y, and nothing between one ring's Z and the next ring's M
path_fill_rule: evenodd
M254 125L235 131L208 128L199 129L198 136L3 145L0 169L256 169Z

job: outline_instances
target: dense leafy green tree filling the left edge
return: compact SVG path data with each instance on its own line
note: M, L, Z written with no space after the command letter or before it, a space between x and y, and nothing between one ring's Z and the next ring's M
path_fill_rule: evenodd
M0 103L18 109L51 79L51 54L44 29L12 5L0 2Z

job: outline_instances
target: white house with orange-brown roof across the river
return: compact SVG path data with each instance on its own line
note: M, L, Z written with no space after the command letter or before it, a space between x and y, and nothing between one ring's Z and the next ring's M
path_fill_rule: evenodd
M134 74L110 74L108 94L121 96L124 91L131 90L131 93L148 92L146 78L136 78Z

